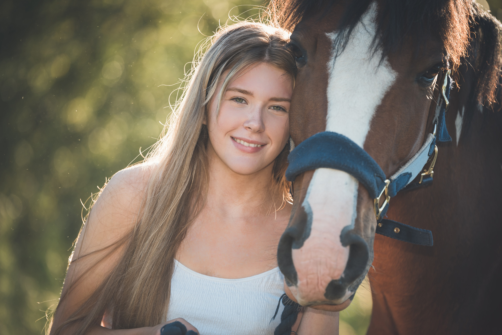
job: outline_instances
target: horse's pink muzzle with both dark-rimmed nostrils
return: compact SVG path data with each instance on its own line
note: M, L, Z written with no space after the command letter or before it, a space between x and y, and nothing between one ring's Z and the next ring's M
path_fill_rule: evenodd
M339 237L330 239L319 233L310 236L312 222L309 220L311 217L303 206L298 206L279 242L277 259L286 285L302 305L348 306L347 299L355 293L367 272L368 245L349 226L342 229ZM309 237L314 240L308 241ZM336 238L339 241L333 241ZM305 248L308 254L296 256ZM341 255L346 255L347 249L348 257ZM305 258L307 255L312 255L311 262ZM338 268L338 272L334 268Z

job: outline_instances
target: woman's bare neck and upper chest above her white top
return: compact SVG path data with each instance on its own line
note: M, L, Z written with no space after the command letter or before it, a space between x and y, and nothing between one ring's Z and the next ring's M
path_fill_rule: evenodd
M215 155L208 156L206 201L176 259L196 272L220 278L244 278L275 268L277 244L291 205L283 203L280 190L271 190L274 164L241 175Z

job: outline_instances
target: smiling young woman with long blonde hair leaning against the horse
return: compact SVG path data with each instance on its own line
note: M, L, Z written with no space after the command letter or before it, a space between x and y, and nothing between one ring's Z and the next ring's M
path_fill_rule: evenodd
M212 38L154 150L90 211L50 334L160 335L175 320L202 335L274 333L291 211L288 36L239 23ZM305 308L292 330L337 334L338 313Z

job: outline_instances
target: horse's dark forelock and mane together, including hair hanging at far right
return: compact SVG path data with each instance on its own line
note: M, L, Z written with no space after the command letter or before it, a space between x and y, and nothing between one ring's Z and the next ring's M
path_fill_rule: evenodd
M345 47L353 28L373 0L271 0L269 9L278 25L293 30L304 17L327 13L328 9L346 2L339 30L342 38L335 50ZM501 104L499 84L502 68L502 26L474 0L381 0L376 22L374 48L383 56L399 50L410 38L417 52L431 37L439 38L453 69L461 64L472 66L475 89L471 100L477 104Z

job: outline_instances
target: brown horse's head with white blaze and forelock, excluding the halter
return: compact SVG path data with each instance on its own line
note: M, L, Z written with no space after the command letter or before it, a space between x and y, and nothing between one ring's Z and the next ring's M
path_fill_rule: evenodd
M290 111L294 144L335 132L364 149L387 176L394 174L433 132L438 87L465 51L469 9L476 5L455 0L280 5L290 15L286 24L301 18L291 36L299 70ZM296 176L290 225L278 248L291 298L326 310L348 306L373 260L377 221L371 193L339 169Z

